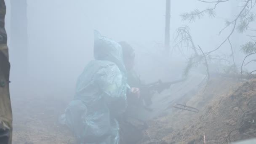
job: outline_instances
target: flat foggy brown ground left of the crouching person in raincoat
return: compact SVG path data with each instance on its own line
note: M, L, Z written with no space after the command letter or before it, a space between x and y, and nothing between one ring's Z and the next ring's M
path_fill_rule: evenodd
M13 144L75 143L72 133L58 125L58 118L72 94L65 94L56 87L52 89L49 84L37 84L11 89Z

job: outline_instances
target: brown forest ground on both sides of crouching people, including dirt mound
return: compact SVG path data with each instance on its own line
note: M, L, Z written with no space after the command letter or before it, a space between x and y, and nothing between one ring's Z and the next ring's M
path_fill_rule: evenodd
M57 124L70 98L28 93L12 98L13 144L74 144L72 133ZM212 77L205 92L186 104L199 112L176 109L150 120L140 144L203 144L204 137L206 144L225 144L256 137L256 79Z

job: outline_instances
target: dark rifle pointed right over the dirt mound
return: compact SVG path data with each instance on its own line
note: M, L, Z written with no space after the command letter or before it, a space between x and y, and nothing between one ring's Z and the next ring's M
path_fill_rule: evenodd
M140 88L141 91L141 100L144 101L146 106L149 106L152 104L152 92L157 91L159 94L163 92L163 90L170 88L171 85L176 83L183 82L184 79L171 81L171 82L162 82L162 80L158 80L154 83L149 83L147 85L142 85Z

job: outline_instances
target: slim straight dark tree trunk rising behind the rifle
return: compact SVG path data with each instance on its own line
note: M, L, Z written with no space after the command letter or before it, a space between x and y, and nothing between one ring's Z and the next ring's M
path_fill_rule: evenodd
M165 51L170 50L170 18L171 18L171 0L166 0L165 12Z

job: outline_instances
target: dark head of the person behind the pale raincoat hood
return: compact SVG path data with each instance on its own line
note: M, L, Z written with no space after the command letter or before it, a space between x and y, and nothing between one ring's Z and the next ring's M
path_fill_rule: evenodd
M119 44L123 48L123 62L127 70L131 70L135 65L135 52L134 49L128 43L122 41Z

